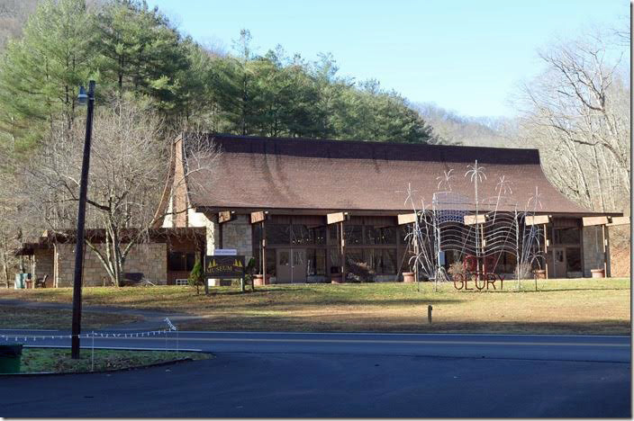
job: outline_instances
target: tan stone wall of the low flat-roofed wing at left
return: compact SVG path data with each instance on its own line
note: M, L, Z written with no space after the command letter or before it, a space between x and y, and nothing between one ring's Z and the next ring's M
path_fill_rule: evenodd
M162 243L132 246L125 261L126 273L143 273L145 279L158 284L166 284L168 277L167 245ZM102 246L103 250L103 246ZM73 284L75 271L75 245L59 244L56 254L57 280L59 287ZM110 279L95 252L86 247L84 257L84 285L110 285Z

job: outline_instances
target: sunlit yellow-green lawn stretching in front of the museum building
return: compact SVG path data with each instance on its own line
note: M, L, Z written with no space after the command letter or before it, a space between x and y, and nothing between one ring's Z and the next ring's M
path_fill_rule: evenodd
M499 288L499 286L498 286ZM630 282L620 279L505 281L503 291L433 291L430 282L213 287L86 288L85 305L197 315L181 330L488 332L629 335ZM0 291L0 296L4 295ZM69 302L71 289L6 292L11 298ZM427 307L433 306L433 323Z

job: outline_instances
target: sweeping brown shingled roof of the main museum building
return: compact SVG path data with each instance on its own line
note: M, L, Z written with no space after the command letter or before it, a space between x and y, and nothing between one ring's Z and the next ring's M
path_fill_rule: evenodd
M493 197L501 176L511 181L505 209L520 210L539 189L539 212L593 214L548 182L536 149L412 145L348 140L278 139L210 134L221 148L213 177L190 175L194 207L213 209L411 211L408 184L418 202L430 202L438 176L454 169L452 190L473 197L465 177L475 159L485 168L480 198Z

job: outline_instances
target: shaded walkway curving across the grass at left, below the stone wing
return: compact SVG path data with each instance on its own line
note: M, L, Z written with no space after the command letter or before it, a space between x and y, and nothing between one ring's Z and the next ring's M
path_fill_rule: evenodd
M0 306L22 307L25 309L73 309L71 303L64 302L38 302L28 300L15 300L0 298ZM169 318L172 323L178 324L182 321L195 320L200 317L192 316L184 313L153 311L148 309L130 309L126 307L109 307L109 306L82 306L82 311L90 311L95 313L110 313L119 315L136 316L142 320L104 327L104 329L117 330L152 330L165 327L165 318Z

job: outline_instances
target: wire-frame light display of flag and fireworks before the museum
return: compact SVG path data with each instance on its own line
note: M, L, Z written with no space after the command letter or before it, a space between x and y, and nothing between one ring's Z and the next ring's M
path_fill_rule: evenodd
M468 197L452 191L453 172L451 168L436 177L437 192L430 202L421 198L418 203L408 185L405 204L416 215L405 236L412 250L410 265L419 276L434 281L437 290L439 282L451 280L445 270L447 254L455 262L463 262L478 279L492 273L503 255L513 255L519 289L520 280L530 277L533 269L541 269L546 257L541 246L546 233L532 222L527 225L527 218L542 209L538 187L526 203L513 202L512 181L502 175L496 181L495 195L482 197L479 187L487 183L487 176L485 167L475 161L466 166L464 175L474 187L473 197Z

